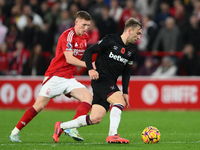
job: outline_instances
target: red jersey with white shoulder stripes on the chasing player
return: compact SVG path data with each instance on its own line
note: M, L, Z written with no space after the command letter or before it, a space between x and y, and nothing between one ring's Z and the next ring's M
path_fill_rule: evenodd
M81 59L87 47L89 36L87 33L78 36L73 28L62 33L58 40L56 55L52 59L45 76L59 76L64 78L74 78L76 67L66 62L65 51L72 51L73 56Z

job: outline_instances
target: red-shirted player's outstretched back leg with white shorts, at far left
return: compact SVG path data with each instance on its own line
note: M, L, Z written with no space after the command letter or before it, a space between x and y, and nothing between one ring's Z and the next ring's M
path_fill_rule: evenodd
M55 76L52 78L44 78L42 88L40 89L40 93L34 105L24 113L16 127L12 130L11 135L9 136L10 141L21 142L18 136L21 129L24 128L48 104L50 98L63 93L66 85L62 80L62 78L58 79L58 77ZM62 83L64 86L61 86Z

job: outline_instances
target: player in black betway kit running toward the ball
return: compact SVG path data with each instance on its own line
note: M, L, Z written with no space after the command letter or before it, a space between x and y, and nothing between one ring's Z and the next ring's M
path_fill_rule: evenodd
M117 133L121 113L125 105L129 106L128 85L131 66L136 55L134 43L140 38L142 25L134 18L125 23L122 33L107 35L97 44L89 47L84 54L88 74L92 80L93 102L90 115L82 115L68 122L56 122L53 138L59 141L60 133L65 129L100 123L106 112L110 111L110 129L106 141L108 143L129 143ZM92 65L92 54L97 54L96 69ZM116 85L117 78L122 75L123 93Z

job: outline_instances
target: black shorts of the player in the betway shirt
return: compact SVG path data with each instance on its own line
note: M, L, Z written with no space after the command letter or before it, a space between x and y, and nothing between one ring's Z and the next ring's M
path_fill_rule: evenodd
M107 98L113 93L120 91L116 82L110 78L104 77L98 80L92 80L91 85L93 89L92 105L99 104L108 111L110 103L107 101Z

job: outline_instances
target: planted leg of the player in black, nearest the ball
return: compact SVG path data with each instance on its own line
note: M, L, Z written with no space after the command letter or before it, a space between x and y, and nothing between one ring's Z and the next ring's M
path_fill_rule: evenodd
M127 139L122 139L117 134L117 129L121 120L121 113L125 106L125 101L120 91L113 93L108 97L107 101L112 104L112 109L110 111L110 128L109 134L106 139L108 143L129 143Z

